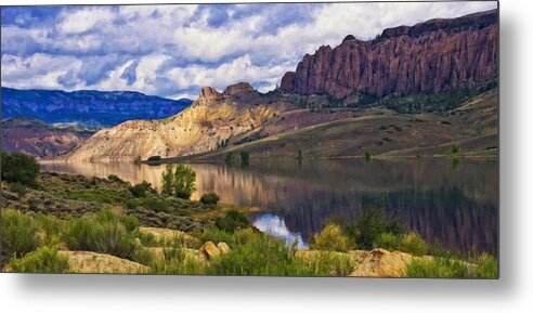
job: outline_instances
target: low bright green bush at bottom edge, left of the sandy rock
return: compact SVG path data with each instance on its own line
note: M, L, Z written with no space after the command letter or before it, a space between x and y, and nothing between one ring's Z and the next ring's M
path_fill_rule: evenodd
M27 253L22 259L12 259L11 270L17 273L68 273L68 257L61 256L55 248L47 246Z

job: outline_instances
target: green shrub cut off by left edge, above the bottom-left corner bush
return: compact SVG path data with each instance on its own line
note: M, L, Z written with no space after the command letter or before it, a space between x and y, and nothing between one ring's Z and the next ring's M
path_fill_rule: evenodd
M39 225L20 211L3 209L0 229L2 253L21 258L37 249L40 244Z

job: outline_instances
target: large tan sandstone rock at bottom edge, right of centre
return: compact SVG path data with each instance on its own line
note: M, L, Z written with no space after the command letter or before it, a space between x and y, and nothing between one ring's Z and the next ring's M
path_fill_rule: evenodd
M402 277L405 275L413 256L405 252L389 252L385 249L374 249L360 263L350 276L360 277Z

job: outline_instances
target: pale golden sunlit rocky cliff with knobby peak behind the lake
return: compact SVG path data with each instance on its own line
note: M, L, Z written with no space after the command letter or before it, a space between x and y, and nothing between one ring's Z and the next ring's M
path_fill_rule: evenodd
M69 157L70 161L131 161L138 157L172 157L220 148L229 139L261 126L286 110L288 103L266 104L248 83L218 92L204 87L194 103L162 120L130 120L103 129Z

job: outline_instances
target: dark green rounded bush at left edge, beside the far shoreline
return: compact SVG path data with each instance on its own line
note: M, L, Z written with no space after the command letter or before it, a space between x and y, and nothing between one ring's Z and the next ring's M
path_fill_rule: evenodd
M1 153L2 180L6 182L18 182L25 185L35 185L35 180L41 171L41 166L37 160L25 154Z

